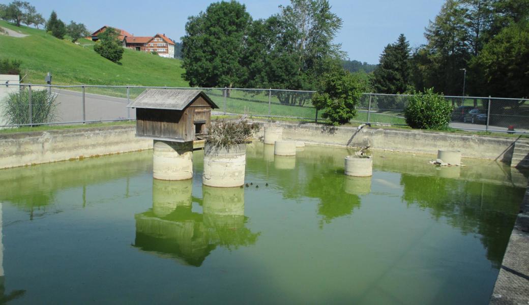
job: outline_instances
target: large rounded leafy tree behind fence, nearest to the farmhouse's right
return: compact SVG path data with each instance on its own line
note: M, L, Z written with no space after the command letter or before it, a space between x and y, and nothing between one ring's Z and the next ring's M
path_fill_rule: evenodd
M247 69L242 64L248 26L246 7L235 1L210 4L191 16L182 38L184 79L191 86L239 86Z

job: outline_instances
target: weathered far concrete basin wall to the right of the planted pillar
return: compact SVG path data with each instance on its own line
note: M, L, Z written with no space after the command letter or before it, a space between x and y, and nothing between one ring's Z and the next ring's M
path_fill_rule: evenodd
M463 158L479 158L510 164L517 138L465 135L446 132L327 126L281 122L283 140L310 144L360 147L423 154L437 150L459 150ZM256 137L261 134L256 133ZM464 160L462 161L464 164Z

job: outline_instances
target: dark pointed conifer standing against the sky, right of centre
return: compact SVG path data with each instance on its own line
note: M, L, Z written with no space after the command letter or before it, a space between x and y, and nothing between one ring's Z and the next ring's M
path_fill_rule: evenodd
M388 44L373 71L373 88L377 93L405 93L412 85L410 49L404 34L394 44Z

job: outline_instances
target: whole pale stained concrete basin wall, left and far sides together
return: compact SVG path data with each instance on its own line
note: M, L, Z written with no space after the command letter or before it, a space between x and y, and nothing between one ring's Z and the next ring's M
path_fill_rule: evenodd
M264 121L256 138L263 137ZM284 140L333 146L435 155L439 149L460 150L463 158L510 164L516 137L364 127L335 127L312 123L280 122ZM90 156L152 149L152 140L135 137L135 126L87 127L0 134L0 169ZM463 160L464 163L464 160Z

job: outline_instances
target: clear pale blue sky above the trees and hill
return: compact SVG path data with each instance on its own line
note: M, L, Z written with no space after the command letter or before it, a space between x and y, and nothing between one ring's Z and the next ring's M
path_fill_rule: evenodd
M188 16L205 11L212 0L26 0L48 19L52 10L65 23L84 23L95 31L103 25L126 30L136 36L165 33L180 41L185 34ZM424 27L434 20L444 0L329 0L332 11L343 20L335 42L351 60L378 63L380 53L388 43L404 33L411 47L425 43ZM10 1L0 0L7 4ZM279 5L289 0L239 0L253 19L265 19L279 12Z

